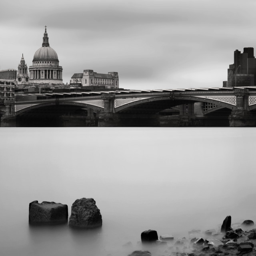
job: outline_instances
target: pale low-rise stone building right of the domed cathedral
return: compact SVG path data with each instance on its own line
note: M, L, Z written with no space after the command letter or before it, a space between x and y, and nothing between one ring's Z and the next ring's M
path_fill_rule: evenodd
M86 69L83 73L75 73L70 80L70 86L78 84L84 86L102 86L105 88L119 88L118 72L108 72L108 74L100 74L93 70Z

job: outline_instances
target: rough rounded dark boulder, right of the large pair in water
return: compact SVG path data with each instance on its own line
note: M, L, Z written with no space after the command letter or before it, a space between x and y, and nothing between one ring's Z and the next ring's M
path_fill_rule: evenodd
M72 228L97 228L102 226L100 210L93 198L77 199L72 204L69 226Z

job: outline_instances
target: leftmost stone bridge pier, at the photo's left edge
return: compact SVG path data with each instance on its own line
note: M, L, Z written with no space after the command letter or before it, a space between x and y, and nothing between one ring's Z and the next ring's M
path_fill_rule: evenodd
M5 114L1 117L0 127L16 127L16 116L14 115L14 100L4 100Z

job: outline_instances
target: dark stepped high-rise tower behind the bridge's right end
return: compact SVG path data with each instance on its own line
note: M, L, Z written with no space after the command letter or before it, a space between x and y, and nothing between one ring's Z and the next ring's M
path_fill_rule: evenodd
M228 81L223 81L223 87L256 86L256 59L252 47L244 48L241 53L234 51L234 64L229 65Z

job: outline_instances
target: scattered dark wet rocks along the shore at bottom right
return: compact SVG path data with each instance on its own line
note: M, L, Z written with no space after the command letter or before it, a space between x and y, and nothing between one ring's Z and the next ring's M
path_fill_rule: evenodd
M190 240L185 237L174 241L172 235L161 235L158 239L156 230L146 230L141 233L142 246L146 250L137 250L128 256L232 256L248 254L256 255L256 229L252 220L245 220L239 228L231 227L231 216L227 216L221 226L220 232L215 229L206 230L203 237L195 237ZM242 230L244 228L244 230ZM250 229L250 230L249 230ZM192 230L189 235L200 234L201 230ZM221 236L216 239L216 236ZM147 247L150 245L151 247ZM153 247L152 247L153 246ZM255 246L256 247L256 246ZM158 248L151 254L149 248Z

